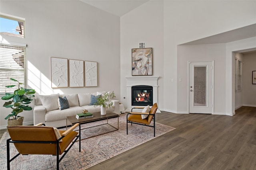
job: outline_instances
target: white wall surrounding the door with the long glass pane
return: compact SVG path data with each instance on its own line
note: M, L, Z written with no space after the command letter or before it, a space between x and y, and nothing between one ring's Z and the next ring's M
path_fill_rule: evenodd
M178 46L178 113L188 113L188 61L214 61L214 114L225 114L225 44Z

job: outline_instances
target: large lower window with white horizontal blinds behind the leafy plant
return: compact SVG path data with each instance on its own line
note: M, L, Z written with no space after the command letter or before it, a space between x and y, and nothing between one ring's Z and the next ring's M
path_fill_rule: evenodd
M17 84L10 78L23 83L21 87L26 88L26 45L17 46L0 43L0 95L12 93L17 89L17 87L5 87Z

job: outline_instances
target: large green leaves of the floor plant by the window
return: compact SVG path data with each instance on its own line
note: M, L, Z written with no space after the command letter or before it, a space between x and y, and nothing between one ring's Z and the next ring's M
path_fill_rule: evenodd
M18 82L14 78L10 78L10 80ZM28 106L27 104L31 103L31 101L33 100L32 97L34 97L33 94L35 94L36 91L34 89L22 88L20 87L21 84L23 83L18 82L18 89L15 90L13 94L6 93L5 96L2 96L2 100L10 100L8 102L5 102L3 106L12 109L12 114L9 114L4 119L8 119L11 116L14 116L16 119L18 113L21 113L23 110L32 110L32 107ZM17 85L10 85L6 87L12 88Z

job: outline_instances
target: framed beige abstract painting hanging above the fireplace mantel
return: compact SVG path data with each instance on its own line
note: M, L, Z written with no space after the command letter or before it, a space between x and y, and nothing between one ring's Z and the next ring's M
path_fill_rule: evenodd
M152 48L132 49L132 76L152 76Z

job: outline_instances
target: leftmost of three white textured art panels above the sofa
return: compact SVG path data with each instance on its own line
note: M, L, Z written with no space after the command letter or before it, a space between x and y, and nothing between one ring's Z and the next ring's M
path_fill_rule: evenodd
M52 88L68 87L68 59L51 57Z

